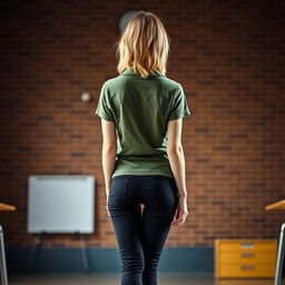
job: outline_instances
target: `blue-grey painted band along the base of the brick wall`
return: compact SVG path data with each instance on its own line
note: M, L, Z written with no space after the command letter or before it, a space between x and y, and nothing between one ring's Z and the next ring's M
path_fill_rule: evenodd
M117 247L87 247L90 273L120 272L120 257ZM86 272L80 247L8 247L7 269L13 272ZM158 265L165 273L213 273L214 247L165 247Z

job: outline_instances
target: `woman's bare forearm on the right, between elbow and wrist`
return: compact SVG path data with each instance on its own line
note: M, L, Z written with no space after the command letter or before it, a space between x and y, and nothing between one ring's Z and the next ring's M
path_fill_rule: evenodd
M185 157L183 147L175 150L167 150L167 155L179 191L179 196L186 197L187 190L185 179Z

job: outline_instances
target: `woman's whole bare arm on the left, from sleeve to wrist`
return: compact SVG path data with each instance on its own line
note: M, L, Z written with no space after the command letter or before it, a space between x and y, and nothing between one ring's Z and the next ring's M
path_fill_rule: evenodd
M111 120L101 119L102 129L102 170L106 187L106 195L108 198L111 175L115 169L116 164L116 153L117 153L117 134L116 124Z

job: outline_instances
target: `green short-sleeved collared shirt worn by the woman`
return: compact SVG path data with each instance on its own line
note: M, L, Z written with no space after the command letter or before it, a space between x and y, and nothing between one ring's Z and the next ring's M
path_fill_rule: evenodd
M167 156L167 121L190 115L184 89L158 69L142 78L131 69L104 82L95 112L115 121L117 156L111 177L165 175L174 178Z

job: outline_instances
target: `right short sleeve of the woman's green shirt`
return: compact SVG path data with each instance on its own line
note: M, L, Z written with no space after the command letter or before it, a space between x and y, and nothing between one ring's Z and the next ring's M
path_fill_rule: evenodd
M180 83L178 83L173 95L173 104L168 115L168 120L175 120L190 115L188 102L184 94L184 89Z

